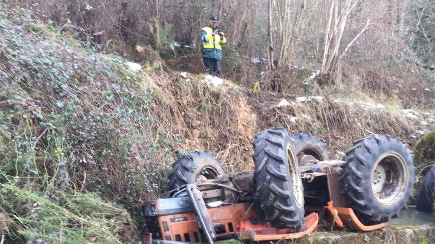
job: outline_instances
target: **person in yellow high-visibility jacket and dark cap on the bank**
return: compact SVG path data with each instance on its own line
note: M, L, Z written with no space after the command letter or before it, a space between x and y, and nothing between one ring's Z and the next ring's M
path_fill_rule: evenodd
M210 75L220 77L222 46L226 43L225 33L217 26L219 17L210 16L209 25L201 29L202 57L206 71Z

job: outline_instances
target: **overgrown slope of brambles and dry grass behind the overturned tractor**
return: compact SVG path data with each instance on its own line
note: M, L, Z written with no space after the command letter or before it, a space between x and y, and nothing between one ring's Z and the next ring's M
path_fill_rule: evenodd
M213 87L198 75L134 72L120 57L84 48L72 33L61 34L21 10L1 10L0 33L0 200L4 213L19 216L11 229L22 235L14 242L25 242L29 232L50 238L64 221L83 223L84 212L64 214L61 222L46 215L53 206L81 209L83 201L66 201L77 192L121 204L140 226L138 207L158 197L171 162L185 151L209 150L228 170L250 169L251 142L265 128L313 133L335 151L371 133L405 139L420 123L404 118L397 107L332 95L277 107L283 96L276 93L230 82ZM39 205L42 199L47 202ZM47 218L44 228L41 218ZM80 226L74 228L80 232ZM107 226L120 237L66 238L117 243L131 232Z

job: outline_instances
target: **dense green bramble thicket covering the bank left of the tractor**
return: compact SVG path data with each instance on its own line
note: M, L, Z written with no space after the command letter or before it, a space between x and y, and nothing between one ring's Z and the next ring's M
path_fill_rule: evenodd
M87 200L93 204L89 212L112 206L98 194L138 212L140 203L158 196L172 161L166 156L171 141L179 138L163 130L151 111L152 83L124 60L95 52L73 31L62 30L67 27L0 6L0 205L9 213L35 211L33 217L14 219L17 240L50 239L51 232L63 229L66 243L85 243L76 235L92 242L93 236L74 232L88 231L76 228L81 215L74 208L83 209ZM44 208L29 208L42 201ZM73 220L66 219L68 213L66 222L59 217L38 229L36 219L50 211L65 214L62 208L76 214ZM112 218L104 214L92 221ZM107 233L116 233L114 228L119 227L109 223ZM116 243L101 236L95 240Z

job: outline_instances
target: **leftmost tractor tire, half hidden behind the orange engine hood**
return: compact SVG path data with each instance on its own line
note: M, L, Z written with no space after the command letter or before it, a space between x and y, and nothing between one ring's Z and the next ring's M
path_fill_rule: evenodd
M196 181L215 179L226 174L222 163L208 152L189 152L172 164L173 170L168 174L167 191Z

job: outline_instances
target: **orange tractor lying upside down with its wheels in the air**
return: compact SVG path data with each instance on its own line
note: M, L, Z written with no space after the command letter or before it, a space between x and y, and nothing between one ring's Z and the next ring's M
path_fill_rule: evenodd
M178 159L165 198L142 207L144 243L295 239L317 228L319 213L336 228L369 231L407 207L414 166L399 139L355 141L346 161L329 160L321 139L284 128L259 132L253 145L254 172L227 174L207 152Z

